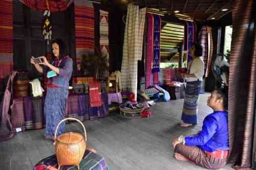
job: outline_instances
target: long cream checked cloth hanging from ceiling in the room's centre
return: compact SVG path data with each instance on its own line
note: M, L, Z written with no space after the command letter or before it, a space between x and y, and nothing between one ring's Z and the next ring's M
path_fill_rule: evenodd
M125 23L121 81L123 89L131 89L137 99L138 60L142 57L143 30L146 9L129 4Z

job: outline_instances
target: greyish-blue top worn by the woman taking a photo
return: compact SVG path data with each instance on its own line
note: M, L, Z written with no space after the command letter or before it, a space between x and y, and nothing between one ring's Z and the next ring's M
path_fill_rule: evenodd
M53 61L54 60L51 60L50 64L53 64ZM56 65L56 67L59 68L59 75L48 78L47 83L68 89L69 80L73 72L73 60L67 56L61 59L61 61L59 62L59 65ZM48 66L44 66L42 67L42 69L43 69L43 73L47 74L50 68Z

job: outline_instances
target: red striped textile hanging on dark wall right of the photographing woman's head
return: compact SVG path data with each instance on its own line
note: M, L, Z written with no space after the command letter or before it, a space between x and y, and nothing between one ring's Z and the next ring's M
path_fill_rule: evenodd
M74 1L76 64L80 70L82 55L94 54L94 8L87 1Z

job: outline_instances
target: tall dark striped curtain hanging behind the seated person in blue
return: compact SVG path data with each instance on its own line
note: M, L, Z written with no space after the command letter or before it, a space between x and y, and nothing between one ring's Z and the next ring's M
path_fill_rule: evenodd
M228 90L229 162L249 169L255 141L256 2L236 0L232 9ZM254 140L253 137L254 136Z

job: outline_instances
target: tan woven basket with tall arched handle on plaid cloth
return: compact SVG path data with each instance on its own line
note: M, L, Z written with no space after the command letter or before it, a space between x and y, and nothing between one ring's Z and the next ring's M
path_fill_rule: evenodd
M56 138L59 125L66 120L76 120L79 122L83 127L84 137L79 133L67 132ZM79 169L79 163L86 151L87 141L86 128L83 126L81 121L76 118L65 118L61 120L55 130L54 140L58 169L63 165L75 165Z

